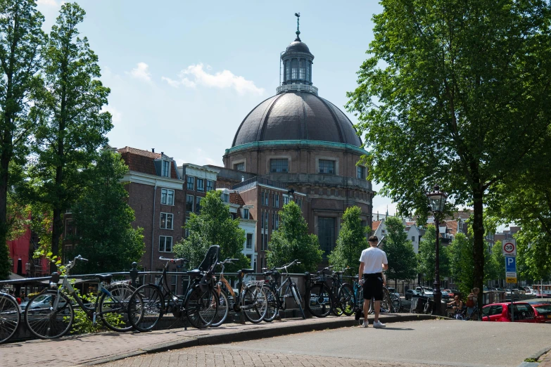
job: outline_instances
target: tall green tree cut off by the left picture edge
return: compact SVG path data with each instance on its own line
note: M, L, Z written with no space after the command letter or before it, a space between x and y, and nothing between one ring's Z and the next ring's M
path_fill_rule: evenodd
M37 109L34 91L45 35L44 17L34 0L0 1L0 279L10 270L6 240L10 231L8 191L16 183L11 166L23 166Z

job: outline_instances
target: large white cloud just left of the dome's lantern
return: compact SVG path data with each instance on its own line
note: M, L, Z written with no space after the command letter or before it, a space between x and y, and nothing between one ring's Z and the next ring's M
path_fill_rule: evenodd
M194 88L195 86L201 85L220 89L230 88L234 89L239 94L264 93L264 89L255 86L254 82L251 80L234 75L234 73L229 70L210 74L209 72L206 72L205 69L210 70L211 67L207 65L204 68L203 64L189 65L184 70L179 72L179 80L173 80L167 77L162 77L161 79L175 88L178 88L180 85L188 88Z

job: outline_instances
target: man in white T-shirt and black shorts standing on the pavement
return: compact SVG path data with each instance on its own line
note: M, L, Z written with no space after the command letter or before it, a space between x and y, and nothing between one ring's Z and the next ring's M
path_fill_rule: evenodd
M386 325L379 321L379 311L381 310L381 301L383 300L383 270L388 269L388 261L386 253L377 247L379 238L376 236L369 237L369 247L362 251L360 256L360 270L358 278L360 284L364 286L364 323L363 327L367 328L367 313L369 311L369 303L374 298L373 308L375 310L374 328L384 328Z

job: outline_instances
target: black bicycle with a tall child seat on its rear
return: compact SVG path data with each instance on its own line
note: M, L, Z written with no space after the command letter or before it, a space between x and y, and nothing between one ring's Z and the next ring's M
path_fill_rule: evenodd
M163 274L157 284L141 285L132 293L130 304L142 304L142 316L129 317L132 326L141 332L152 330L167 313L177 318L185 316L195 328L207 328L215 320L218 311L218 296L213 287L213 273L218 262L220 246L210 246L205 259L198 269L187 271L190 281L184 296L175 295L168 284L167 268L169 264L187 262L186 259L167 259Z

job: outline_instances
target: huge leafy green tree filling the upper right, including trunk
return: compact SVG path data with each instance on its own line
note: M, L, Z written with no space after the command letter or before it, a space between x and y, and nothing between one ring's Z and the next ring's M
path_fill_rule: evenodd
M483 205L499 184L519 182L533 152L550 146L549 4L381 5L347 105L365 134L369 178L384 182L381 193L400 202L400 212L426 211L424 193L436 183L455 204L472 205L474 284L482 288Z

